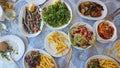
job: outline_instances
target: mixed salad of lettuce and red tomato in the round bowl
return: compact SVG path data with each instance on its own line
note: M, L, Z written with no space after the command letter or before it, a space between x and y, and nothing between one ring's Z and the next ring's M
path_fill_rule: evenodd
M70 29L70 40L74 46L87 48L95 43L95 36L91 30L84 25L77 25Z

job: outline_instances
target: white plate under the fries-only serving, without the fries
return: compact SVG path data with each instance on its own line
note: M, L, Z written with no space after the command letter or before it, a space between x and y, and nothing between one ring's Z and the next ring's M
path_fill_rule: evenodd
M53 32L59 32L59 33L65 35L68 38L68 35L66 33L62 32L62 31L53 31ZM47 40L47 37L49 35L51 35L53 32L49 33L45 38L45 42L44 42L45 50L54 57L61 57L61 56L66 55L69 52L70 47L71 47L70 43L69 43L69 39L68 39L68 42L67 42L68 49L65 50L64 54L63 55L62 54L55 54L56 50L55 50L54 45L50 44Z

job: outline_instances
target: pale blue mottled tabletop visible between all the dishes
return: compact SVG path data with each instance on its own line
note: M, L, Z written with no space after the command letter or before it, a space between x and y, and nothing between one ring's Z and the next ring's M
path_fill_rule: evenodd
M88 20L88 19L82 18L77 13L76 7L77 7L78 1L80 0L63 0L63 1L65 1L72 9L72 20L67 27L61 29L60 31L63 31L66 34L68 34L70 27L76 22L83 21L83 22L90 24L91 26L93 26L93 24L96 22L96 20ZM112 14L116 9L120 8L120 0L101 0L101 1L105 3L105 5L107 6L107 10L108 10L107 15ZM44 40L45 40L45 37L50 32L54 31L53 29L50 29L49 27L44 25L42 32L36 37L26 37L20 31L19 14L20 14L21 8L26 4L27 4L26 0L17 0L14 3L14 10L16 12L16 20L8 21L5 19L4 21L2 21L7 26L8 31L3 33L0 37L6 36L6 35L16 35L20 37L24 41L24 44L25 44L25 53L30 49L42 49L46 51L44 48ZM116 40L118 40L120 38L120 13L115 16L112 22L114 22L117 28L118 37ZM85 68L85 63L89 57L94 56L94 55L107 55L107 50L113 46L115 41L109 42L109 43L101 43L97 41L97 43L94 46L86 50L79 50L71 46L72 56L71 56L71 60L68 65L68 68ZM17 61L17 63L20 65L20 68L24 68L23 56L20 60ZM58 68L66 68L66 65L68 64L68 57L69 57L68 54L66 54L65 56L62 56L62 57L53 57L53 58L55 59L55 62ZM0 68L17 68L17 66L15 65L14 62L4 63L0 61Z

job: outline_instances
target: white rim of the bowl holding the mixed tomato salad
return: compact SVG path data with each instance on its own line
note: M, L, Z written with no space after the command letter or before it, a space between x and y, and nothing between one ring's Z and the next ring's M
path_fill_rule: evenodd
M94 35L94 36L96 36L96 34L95 34L94 29L92 28L92 26L89 25L88 23L85 23L85 22L77 22L77 23L75 23L74 25L72 25L72 26L70 27L70 29L73 28L73 27L75 27L75 26L84 25L84 24L86 24L86 27L93 32L93 35ZM70 30L69 30L69 32L68 32L68 35L69 35L69 40L70 40L70 39L71 39L71 37L70 37ZM70 40L70 42L71 42L71 40ZM71 42L71 45L72 45L72 42ZM85 50L85 49L88 49L88 48L92 47L92 45L88 46L88 47L85 48L85 49L82 48L82 47L77 47L77 46L73 46L73 47L76 48L76 49Z

